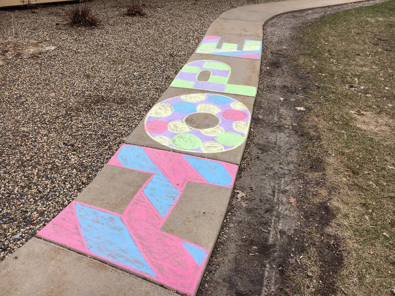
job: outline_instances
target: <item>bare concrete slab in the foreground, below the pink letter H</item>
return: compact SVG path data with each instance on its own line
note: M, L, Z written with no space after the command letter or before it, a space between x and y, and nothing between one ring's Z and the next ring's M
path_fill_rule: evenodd
M50 242L31 238L0 262L8 296L171 296L173 292Z

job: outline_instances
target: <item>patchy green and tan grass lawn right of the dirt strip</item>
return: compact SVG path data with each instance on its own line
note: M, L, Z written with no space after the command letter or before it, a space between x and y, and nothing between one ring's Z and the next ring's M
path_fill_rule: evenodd
M325 229L346 249L336 295L394 295L395 290L395 1L324 17L303 36L298 63L316 88L305 133L320 139L308 153L324 161L324 187L337 217ZM382 138L382 139L380 139ZM314 247L306 257L314 263ZM316 295L305 274L292 272L297 295Z

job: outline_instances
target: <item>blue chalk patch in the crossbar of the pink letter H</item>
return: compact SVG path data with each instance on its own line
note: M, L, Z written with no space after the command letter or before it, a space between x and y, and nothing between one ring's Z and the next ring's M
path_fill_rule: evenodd
M180 191L162 174L153 176L143 192L162 217L166 216L180 194Z

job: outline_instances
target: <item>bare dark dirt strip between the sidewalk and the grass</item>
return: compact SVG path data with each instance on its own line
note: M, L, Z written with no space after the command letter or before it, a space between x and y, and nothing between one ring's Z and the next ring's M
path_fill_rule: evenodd
M306 274L317 295L335 293L344 251L339 238L323 230L335 216L333 210L327 202L313 204L306 196L313 184L311 179L305 182L300 168L322 172L323 166L320 157L304 154L305 145L318 139L299 130L308 110L296 107L315 86L294 65L301 52L292 45L301 34L300 26L329 13L375 3L379 2L290 13L264 26L250 134L232 202L198 294L293 294L297 287L284 277L284 270ZM314 187L325 184L321 174L317 176ZM330 192L328 202L329 196ZM306 229L311 229L310 236ZM314 254L303 257L313 244Z

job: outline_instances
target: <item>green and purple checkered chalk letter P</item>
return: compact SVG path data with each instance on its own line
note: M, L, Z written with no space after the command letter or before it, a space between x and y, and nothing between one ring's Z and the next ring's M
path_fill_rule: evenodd
M210 77L207 81L198 81L198 76L202 71L210 72ZM249 97L256 96L257 88L255 86L229 84L230 75L231 68L228 64L213 60L197 60L182 67L170 86L224 92Z

